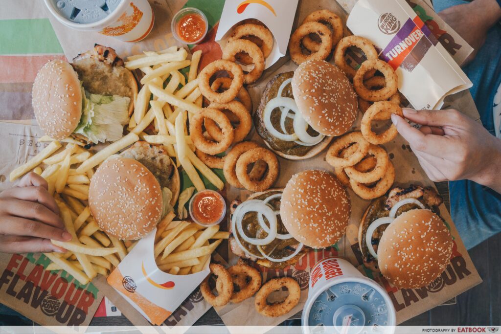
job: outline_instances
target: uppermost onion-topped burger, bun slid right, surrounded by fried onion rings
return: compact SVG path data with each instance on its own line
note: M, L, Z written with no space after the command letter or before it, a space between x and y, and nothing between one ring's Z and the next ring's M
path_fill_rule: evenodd
M308 159L347 132L357 95L343 71L323 60L302 63L266 86L254 124L266 145L291 160Z

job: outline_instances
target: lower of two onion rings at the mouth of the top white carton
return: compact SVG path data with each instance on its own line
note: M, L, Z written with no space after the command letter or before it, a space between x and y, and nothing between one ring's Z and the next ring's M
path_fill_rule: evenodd
M247 74L243 74L243 82L245 84L252 84L261 78L265 70L265 57L256 44L247 40L233 40L224 46L222 59L234 62L235 55L241 52L246 53L253 60L254 69Z

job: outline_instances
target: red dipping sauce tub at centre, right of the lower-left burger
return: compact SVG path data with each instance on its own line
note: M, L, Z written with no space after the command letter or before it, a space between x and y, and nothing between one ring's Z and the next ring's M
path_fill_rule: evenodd
M218 192L202 190L191 198L189 213L199 225L219 224L226 214L226 202Z

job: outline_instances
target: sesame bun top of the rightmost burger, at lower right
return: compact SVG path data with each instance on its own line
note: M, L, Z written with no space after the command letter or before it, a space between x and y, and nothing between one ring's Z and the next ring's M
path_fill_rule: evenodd
M399 288L419 288L435 280L449 264L452 237L442 219L425 209L396 217L379 241L381 273Z

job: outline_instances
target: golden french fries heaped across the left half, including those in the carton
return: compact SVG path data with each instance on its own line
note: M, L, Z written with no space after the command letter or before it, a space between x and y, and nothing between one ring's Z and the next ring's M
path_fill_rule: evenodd
M139 139L163 144L176 166L182 166L197 191L205 189L197 170L218 189L224 183L194 153L186 121L202 110L198 89L198 64L201 51L187 59L184 49L171 47L159 52L144 52L127 58L125 67L143 73L134 105L129 133L92 154L84 144L72 138L54 140L48 136L40 142L50 142L41 152L10 174L11 182L34 171L49 184L61 210L66 229L73 235L69 242L52 240L66 253L46 253L53 263L47 270L66 270L80 283L87 284L98 273L108 275L125 258L136 242L125 243L105 234L91 216L88 205L89 184L94 168L109 156L134 144ZM189 67L186 77L180 70ZM153 95L153 100L150 97ZM144 131L154 125L155 134ZM65 146L62 144L66 144ZM172 274L188 274L202 270L210 255L228 232L218 226L204 228L187 221L174 221L170 212L158 225L155 258L161 270ZM209 243L209 240L215 240Z

